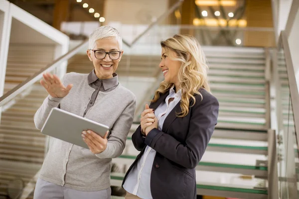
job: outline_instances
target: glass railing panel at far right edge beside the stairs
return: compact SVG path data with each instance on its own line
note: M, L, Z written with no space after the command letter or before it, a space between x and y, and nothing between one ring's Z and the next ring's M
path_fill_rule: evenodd
M278 118L281 125L278 131L278 153L279 153L279 189L282 199L294 199L297 196L297 173L298 173L298 144L295 130L293 106L289 87L288 71L286 66L284 50L277 54L279 73L279 95Z

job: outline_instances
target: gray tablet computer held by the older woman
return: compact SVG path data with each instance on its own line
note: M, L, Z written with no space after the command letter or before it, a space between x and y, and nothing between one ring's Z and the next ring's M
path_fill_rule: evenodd
M92 130L104 137L109 127L55 107L49 113L41 133L89 149L81 136L84 130Z

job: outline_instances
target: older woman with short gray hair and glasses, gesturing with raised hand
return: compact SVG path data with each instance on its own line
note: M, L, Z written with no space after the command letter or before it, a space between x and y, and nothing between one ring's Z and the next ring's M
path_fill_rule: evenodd
M90 74L68 73L62 82L44 74L41 85L49 96L34 115L40 129L50 110L66 111L110 126L101 137L83 131L90 150L54 139L36 183L34 199L110 199L111 159L120 156L133 122L136 98L118 82L122 38L110 26L97 28L89 38L87 55L93 62Z

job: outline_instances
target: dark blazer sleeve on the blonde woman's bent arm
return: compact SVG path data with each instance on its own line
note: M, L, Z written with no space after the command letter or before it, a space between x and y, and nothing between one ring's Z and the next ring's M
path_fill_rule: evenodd
M219 103L216 98L196 99L190 109L189 131L186 144L171 135L153 128L145 143L165 158L189 169L197 166L217 124Z

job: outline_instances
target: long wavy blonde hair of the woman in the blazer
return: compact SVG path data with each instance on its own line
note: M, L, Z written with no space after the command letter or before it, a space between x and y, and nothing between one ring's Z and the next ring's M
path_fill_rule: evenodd
M176 34L171 38L161 41L161 47L168 54L171 60L181 62L181 67L178 72L178 81L180 89L182 90L181 97L181 112L177 113L178 117L184 117L189 112L189 107L195 103L194 95L200 94L200 89L205 89L210 92L208 85L208 69L206 64L206 57L198 43L198 41L190 35ZM172 57L169 51L173 51L176 57ZM159 88L154 93L154 98L151 100L155 102L160 95L166 93L173 86L173 83L162 81ZM193 104L190 104L190 99L193 99Z

